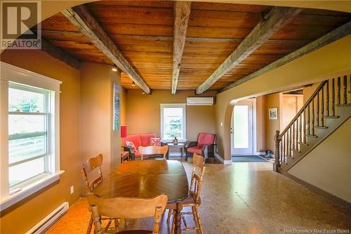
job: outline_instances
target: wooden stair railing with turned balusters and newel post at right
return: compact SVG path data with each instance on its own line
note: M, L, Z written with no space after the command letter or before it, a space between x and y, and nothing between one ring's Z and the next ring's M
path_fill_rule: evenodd
M286 164L287 158L293 157L293 150L300 152L300 145L307 145L307 136L317 138L314 129L327 128L324 118L338 118L336 106L350 105L350 102L347 103L347 93L350 94L350 91L347 91L347 75L338 77L336 81L328 79L319 84L288 126L281 133L279 130L275 132L274 171L280 171L281 164Z

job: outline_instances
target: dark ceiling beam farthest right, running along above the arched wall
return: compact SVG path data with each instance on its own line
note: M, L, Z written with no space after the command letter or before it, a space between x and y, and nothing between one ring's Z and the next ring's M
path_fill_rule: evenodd
M289 63L292 60L296 60L296 58L305 56L307 53L315 51L318 48L326 46L327 44L330 44L331 42L336 41L340 38L346 37L349 34L351 34L351 21L347 22L345 25L338 27L336 30L333 30L325 34L319 39L312 41L310 44L307 44L306 46L303 46L302 48L299 48L298 50L293 51L293 53L289 53L287 56L284 56L283 58L280 58L279 60L274 61L273 63L270 63L269 65L263 67L262 69L256 72L253 72L251 74L248 74L246 77L239 79L237 82L234 82L228 86L225 86L223 89L220 89L219 92L221 93L223 91L226 91L227 89L232 89L233 87L238 86L239 84L248 82L250 79L258 77L261 74L265 74L266 72L269 72L270 70L280 67L286 63Z

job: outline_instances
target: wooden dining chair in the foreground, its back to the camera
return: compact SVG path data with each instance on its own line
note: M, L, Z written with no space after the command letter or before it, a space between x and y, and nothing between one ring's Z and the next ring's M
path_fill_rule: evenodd
M143 219L154 216L153 230L124 230L123 234L158 234L161 215L164 213L168 197L159 195L151 199L134 197L114 197L102 199L91 193L88 202L93 212L96 234L115 233L112 228L102 228L100 217L109 216L119 219ZM117 234L117 233L116 233Z

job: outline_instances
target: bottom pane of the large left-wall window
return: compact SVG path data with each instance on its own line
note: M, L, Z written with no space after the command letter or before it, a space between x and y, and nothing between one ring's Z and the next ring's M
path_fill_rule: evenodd
M32 160L9 168L8 181L10 186L44 173L44 157Z

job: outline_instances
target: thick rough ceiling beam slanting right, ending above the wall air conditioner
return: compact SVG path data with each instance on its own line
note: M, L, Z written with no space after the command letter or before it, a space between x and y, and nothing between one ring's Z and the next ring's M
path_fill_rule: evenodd
M241 63L242 60L247 58L253 51L256 51L258 47L265 43L265 41L270 39L274 33L289 23L301 10L301 8L272 8L272 10L258 22L258 25L253 28L244 41L241 41L235 51L233 51L217 70L197 88L196 93L204 93L204 91L215 84L220 77L223 77L225 73Z

